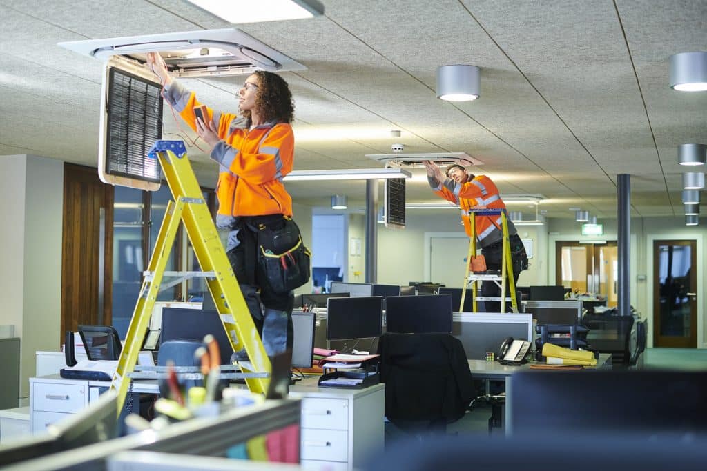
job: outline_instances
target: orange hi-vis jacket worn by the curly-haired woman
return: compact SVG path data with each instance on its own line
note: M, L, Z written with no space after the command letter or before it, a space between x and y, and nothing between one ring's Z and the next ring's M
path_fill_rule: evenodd
M164 96L196 131L194 107L201 105L196 95L173 81ZM291 216L292 197L282 179L292 171L295 150L292 126L269 122L249 131L245 117L211 108L208 114L221 138L211 150L211 159L219 164L218 215Z

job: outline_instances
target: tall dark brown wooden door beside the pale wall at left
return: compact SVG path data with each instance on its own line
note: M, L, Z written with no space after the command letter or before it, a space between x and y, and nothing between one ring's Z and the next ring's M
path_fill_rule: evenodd
M110 326L113 187L93 167L64 166L62 342L79 325Z

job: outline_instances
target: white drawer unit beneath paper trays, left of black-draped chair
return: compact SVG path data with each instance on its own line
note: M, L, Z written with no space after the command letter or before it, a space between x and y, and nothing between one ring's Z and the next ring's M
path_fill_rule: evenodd
M305 470L353 470L381 453L385 386L320 388L317 378L290 387L302 399L300 458Z

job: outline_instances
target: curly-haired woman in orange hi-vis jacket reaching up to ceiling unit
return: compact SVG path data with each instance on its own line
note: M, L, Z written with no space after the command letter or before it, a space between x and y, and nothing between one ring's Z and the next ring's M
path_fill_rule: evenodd
M291 232L293 225L292 198L283 183L293 167L295 144L288 85L275 73L256 71L236 92L239 114L230 114L201 105L170 76L159 54L148 54L148 66L160 78L165 100L218 162L216 226L229 230L228 261L265 352L271 357L284 352L292 346L293 292L273 289L257 257L258 247L272 242L262 237L273 239L284 227ZM245 350L236 352L235 359L247 360Z

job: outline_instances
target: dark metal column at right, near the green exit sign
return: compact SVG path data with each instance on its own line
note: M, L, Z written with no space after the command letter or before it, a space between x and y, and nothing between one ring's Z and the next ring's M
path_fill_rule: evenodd
M631 315L631 175L619 174L617 187L619 249L619 315Z

